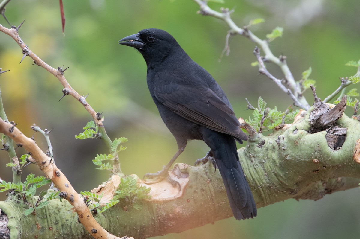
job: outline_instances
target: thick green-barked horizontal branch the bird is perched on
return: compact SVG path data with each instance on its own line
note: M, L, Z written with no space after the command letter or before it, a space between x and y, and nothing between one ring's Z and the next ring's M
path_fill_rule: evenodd
M257 207L288 198L318 200L327 193L358 186L360 164L355 158L360 150L360 122L346 115L335 120L332 125L347 130L342 146L332 149L327 131L310 131L313 109L267 137L252 132L247 146L239 150ZM198 167L177 163L170 175L180 189L166 181L146 184L139 179L152 188L152 198L143 201L143 209L116 205L95 219L114 235L126 232L134 238L147 238L233 216L219 170L214 173L211 162ZM113 176L95 191L109 198L118 181ZM8 216L12 238L90 238L65 200L51 200L47 207L36 210L36 215L23 216L27 205L21 198L10 199L0 202L0 209Z

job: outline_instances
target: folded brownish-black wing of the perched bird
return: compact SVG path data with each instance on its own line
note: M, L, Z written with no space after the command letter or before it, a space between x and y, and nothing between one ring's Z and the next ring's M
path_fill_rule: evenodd
M212 130L233 135L240 140L247 139L239 128L239 121L229 100L215 81L211 89L208 85L197 85L196 88L187 86L184 79L174 75L164 77L160 74L157 79L162 79L162 82L156 84L155 97L171 111Z

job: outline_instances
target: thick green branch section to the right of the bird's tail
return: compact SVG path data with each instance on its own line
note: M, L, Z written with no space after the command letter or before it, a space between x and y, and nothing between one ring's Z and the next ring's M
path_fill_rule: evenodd
M340 149L332 150L326 131L308 132L313 109L306 112L301 122L268 137L251 139L239 150L259 206L288 198L317 200L325 193L358 186L360 165L352 157L360 139L360 122L344 114L337 124L347 128L346 140Z

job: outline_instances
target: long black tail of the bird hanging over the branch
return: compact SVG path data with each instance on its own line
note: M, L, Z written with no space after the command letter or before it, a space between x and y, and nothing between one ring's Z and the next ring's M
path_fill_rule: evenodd
M237 220L255 217L255 200L239 163L234 137L216 131L207 135L210 137L204 141L216 160L234 217Z

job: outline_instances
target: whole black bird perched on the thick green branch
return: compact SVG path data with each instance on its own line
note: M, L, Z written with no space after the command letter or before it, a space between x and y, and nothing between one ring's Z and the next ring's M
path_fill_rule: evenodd
M203 140L210 147L206 158L215 158L235 218L255 217L255 200L239 163L235 143L236 140L242 144L248 137L240 130L239 121L219 84L166 31L144 29L119 42L136 48L143 55L148 66L150 94L177 142L178 150L166 167L145 176L168 175L188 140Z

